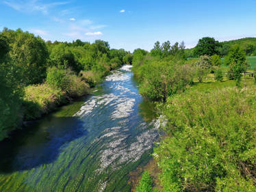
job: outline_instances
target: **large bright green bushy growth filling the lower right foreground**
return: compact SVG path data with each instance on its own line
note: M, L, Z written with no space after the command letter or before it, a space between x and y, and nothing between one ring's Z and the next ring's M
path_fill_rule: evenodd
M256 191L255 87L168 98L155 149L163 191Z

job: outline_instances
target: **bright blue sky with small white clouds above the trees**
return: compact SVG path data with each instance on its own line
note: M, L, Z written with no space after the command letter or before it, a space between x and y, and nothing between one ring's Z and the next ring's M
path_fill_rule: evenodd
M21 28L44 40L93 42L150 50L159 40L185 42L256 37L255 0L0 0L0 29Z

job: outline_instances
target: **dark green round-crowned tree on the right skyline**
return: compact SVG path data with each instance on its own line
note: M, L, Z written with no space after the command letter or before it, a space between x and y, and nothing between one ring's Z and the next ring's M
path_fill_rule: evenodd
M202 38L199 40L198 44L194 48L194 55L199 57L201 55L209 55L212 56L214 54L218 54L219 42L214 38Z

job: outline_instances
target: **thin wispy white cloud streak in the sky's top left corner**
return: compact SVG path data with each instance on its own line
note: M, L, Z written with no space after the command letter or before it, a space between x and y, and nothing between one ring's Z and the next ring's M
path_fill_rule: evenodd
M8 0L3 1L3 3L19 12L42 12L42 14L48 14L51 8L57 5L66 5L68 2L42 3L38 0Z

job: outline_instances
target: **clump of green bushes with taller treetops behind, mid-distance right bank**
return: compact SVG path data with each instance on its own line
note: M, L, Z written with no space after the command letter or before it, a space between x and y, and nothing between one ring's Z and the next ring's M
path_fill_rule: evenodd
M133 72L140 82L140 94L151 100L165 101L192 83L192 65L184 59L184 44L155 43L151 53L142 49L133 52Z

